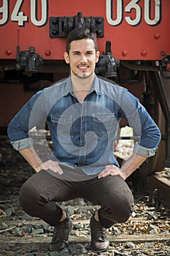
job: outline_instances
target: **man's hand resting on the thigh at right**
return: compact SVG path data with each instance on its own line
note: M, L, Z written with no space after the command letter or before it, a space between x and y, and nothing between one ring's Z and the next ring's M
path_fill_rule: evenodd
M123 171L120 170L120 168L115 165L106 165L105 169L102 170L102 172L98 174L98 178L104 178L109 175L120 176L121 178L123 178L123 180L125 180L125 178L126 178L125 173L123 173Z

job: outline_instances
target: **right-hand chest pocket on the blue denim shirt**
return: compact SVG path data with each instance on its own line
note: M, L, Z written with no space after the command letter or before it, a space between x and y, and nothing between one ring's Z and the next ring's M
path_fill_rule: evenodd
M117 120L114 113L93 114L93 131L98 138L109 138L117 127Z

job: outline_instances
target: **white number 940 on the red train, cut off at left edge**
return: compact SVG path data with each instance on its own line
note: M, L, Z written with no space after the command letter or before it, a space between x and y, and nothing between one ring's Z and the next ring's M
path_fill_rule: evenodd
M24 0L17 0L14 9L12 10L11 20L18 22L18 26L24 26L28 22L28 16L21 11ZM41 1L41 18L38 20L38 0L30 1L31 8L31 23L35 26L45 26L47 23L47 0ZM0 26L4 26L9 20L9 0L2 0L2 5L0 7Z

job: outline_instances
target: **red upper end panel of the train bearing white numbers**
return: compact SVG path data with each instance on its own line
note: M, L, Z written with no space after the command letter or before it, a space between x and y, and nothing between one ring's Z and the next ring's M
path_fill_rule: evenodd
M161 60L169 54L168 0L1 0L0 59L16 59L18 46L32 46L44 60L63 60L64 36L83 22L78 12L96 31L101 53L109 40L117 60Z

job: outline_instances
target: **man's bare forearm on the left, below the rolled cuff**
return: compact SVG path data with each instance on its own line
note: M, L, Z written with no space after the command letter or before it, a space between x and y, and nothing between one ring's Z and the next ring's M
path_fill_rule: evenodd
M31 167L34 168L36 172L42 170L42 160L36 154L36 151L33 147L20 150L19 152L23 156L23 158L26 159L26 161L31 165Z

